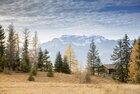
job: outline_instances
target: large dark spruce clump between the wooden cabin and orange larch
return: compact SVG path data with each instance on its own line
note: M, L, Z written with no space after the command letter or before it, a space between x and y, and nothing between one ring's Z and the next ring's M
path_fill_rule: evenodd
M112 55L112 60L116 65L115 78L121 82L127 82L128 80L130 52L129 37L125 35L125 37L118 42L118 46L116 46Z

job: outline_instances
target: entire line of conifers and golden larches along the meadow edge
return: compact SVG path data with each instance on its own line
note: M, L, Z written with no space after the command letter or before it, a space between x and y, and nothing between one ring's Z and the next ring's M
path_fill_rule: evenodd
M23 43L20 42L19 34L12 24L8 26L7 30L0 25L0 72L26 72L30 73L29 80L33 80L37 71L46 71L47 76L53 77L54 71L71 74L73 70L78 69L76 68L78 61L71 45L66 49L63 58L58 52L53 66L48 50L42 51L39 47L37 32L35 32L30 43L30 32L25 29L23 31ZM140 83L140 38L135 39L133 45L130 45L127 34L118 40L111 60L115 65L115 72L112 75L115 80ZM86 79L95 73L98 75L104 73L104 66L94 40L91 41L87 54L87 73Z

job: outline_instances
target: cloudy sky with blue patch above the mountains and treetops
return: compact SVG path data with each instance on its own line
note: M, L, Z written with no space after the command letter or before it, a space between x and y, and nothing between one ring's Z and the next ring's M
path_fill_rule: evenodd
M0 0L0 24L37 31L46 42L61 35L140 36L140 0Z

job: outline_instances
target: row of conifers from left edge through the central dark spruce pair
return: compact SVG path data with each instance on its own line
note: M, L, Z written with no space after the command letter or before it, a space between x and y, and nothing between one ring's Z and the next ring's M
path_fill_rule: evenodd
M39 47L37 32L32 40L28 29L23 31L22 43L14 25L5 30L0 25L0 72L10 74L12 71L30 73L29 80L37 75L37 71L47 71L47 76L53 77L53 71L71 73L67 56L61 57L58 52L53 67L49 52ZM31 40L31 42L30 42ZM30 45L32 44L32 45ZM22 46L21 46L22 45Z

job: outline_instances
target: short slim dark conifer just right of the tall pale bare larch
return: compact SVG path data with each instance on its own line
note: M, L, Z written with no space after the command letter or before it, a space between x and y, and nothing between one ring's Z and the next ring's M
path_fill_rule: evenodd
M40 48L38 52L38 68L43 71L43 63L44 63L44 56L43 56L43 51Z

